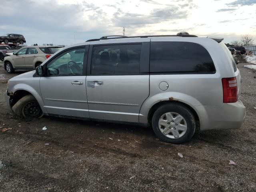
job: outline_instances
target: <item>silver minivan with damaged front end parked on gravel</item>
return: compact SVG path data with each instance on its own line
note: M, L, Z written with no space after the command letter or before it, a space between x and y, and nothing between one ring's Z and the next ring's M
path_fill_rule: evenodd
M175 144L196 129L238 129L245 117L241 77L222 40L186 34L88 40L11 78L6 101L24 118L152 126Z

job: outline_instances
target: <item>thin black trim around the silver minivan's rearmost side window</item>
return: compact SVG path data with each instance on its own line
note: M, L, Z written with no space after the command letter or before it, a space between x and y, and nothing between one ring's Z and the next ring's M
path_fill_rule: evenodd
M151 43L154 43L154 42L179 42L179 41L153 41L153 42L150 42L150 46L151 46ZM182 41L182 42L188 42L188 41ZM198 44L196 42L188 42L188 43L194 43L194 44ZM198 44L200 46L202 46L201 44ZM202 46L207 52L208 54L210 55L210 52L204 47ZM210 55L210 58L212 59L212 56ZM214 64L214 61L212 60L213 64ZM150 68L150 54L149 54L149 68ZM215 64L214 64L214 68L215 68L215 71L214 72L202 72L202 73L196 73L196 72L149 72L150 75L193 75L193 74L196 74L196 75L203 75L203 74L216 74L216 67L215 67ZM150 70L149 70L150 71Z

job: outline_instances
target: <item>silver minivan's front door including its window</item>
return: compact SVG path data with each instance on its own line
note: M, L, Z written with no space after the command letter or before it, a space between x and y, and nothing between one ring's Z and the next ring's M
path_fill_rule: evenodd
M88 48L64 50L46 63L40 90L48 114L89 118L85 76Z

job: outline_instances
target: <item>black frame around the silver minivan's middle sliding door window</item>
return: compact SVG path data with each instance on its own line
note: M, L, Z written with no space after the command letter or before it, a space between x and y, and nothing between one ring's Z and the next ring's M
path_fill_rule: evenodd
M92 49L94 46L111 46L111 45L134 45L140 44L140 73L136 74L91 74L92 65ZM129 43L105 43L105 44L91 44L88 53L87 62L87 76L124 76L124 75L149 75L149 53L150 53L150 42L129 42Z

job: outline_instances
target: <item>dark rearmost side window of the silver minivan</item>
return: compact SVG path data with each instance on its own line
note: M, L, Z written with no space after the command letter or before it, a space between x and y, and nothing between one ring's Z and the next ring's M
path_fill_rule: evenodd
M216 72L208 51L191 42L151 42L150 73L213 74Z

